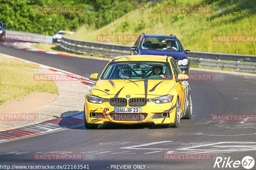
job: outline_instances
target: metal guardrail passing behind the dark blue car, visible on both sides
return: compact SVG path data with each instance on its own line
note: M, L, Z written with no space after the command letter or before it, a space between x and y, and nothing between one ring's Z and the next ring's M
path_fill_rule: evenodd
M74 53L111 58L130 55L131 52L131 46L83 41L66 36L62 36L60 47ZM256 55L191 51L187 56L195 67L256 73Z

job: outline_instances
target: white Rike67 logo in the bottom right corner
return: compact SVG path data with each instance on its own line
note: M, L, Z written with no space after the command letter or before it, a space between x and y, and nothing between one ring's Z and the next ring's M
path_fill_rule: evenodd
M225 157L224 159L221 157L217 157L214 163L214 168L238 168L241 165L245 169L251 169L254 166L254 159L251 156L245 156L242 161L240 160L231 160L230 157Z

